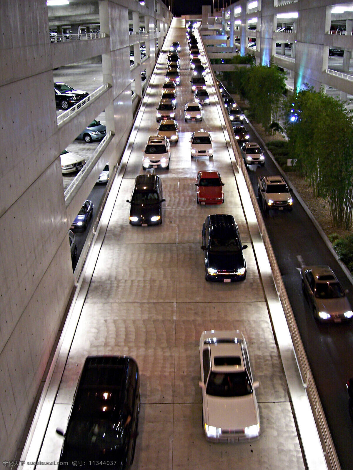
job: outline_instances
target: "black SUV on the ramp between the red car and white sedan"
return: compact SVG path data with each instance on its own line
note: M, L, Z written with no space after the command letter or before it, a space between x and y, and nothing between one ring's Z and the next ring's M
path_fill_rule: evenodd
M213 214L202 227L206 281L233 282L246 278L246 262L239 229L233 215Z

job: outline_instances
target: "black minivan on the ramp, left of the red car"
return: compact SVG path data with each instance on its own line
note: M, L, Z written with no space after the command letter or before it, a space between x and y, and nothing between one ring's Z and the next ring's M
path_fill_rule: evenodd
M130 203L131 225L160 225L162 223L163 198L162 181L156 174L136 176Z

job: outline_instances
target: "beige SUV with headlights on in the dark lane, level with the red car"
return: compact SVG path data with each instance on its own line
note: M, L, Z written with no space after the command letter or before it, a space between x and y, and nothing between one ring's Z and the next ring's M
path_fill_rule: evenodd
M293 198L281 176L261 176L257 178L257 195L260 207L264 211L278 209L291 211Z

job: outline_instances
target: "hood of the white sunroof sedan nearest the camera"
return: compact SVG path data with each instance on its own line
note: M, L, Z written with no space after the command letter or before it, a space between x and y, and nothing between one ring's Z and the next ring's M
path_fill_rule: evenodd
M209 426L241 431L259 422L255 393L243 397L206 395L206 417Z

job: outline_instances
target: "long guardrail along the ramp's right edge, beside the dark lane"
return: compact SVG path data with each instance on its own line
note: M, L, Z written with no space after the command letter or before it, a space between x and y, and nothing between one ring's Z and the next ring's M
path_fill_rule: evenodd
M210 63L209 56L205 48L204 48L204 51L205 51L205 55L207 57L208 63ZM214 83L216 83L216 76L214 74L214 71L212 70L212 67L209 67L209 69L210 69L212 78L214 80ZM222 99L222 96L220 94L218 87L215 86L215 89L216 89L216 93L218 96L218 100L219 102L222 103L223 99ZM316 424L316 429L320 437L320 442L321 442L323 453L325 455L326 463L330 470L340 470L341 467L340 467L338 457L336 454L336 449L333 444L331 433L329 431L329 426L327 424L326 417L325 417L325 414L321 405L321 401L319 398L319 394L316 389L316 385L313 379L313 374L311 372L309 362L306 357L305 349L304 349L302 339L299 334L297 323L293 315L292 307L290 305L287 291L286 291L286 288L285 288L285 285L281 276L281 271L278 267L277 260L273 252L272 244L271 244L270 238L268 236L268 233L265 227L265 222L262 217L262 213L259 208L259 205L257 203L257 198L255 195L254 189L252 187L249 174L246 170L244 160L241 157L239 150L237 148L237 144L234 138L233 128L231 126L229 116L227 112L225 111L224 106L221 106L221 109L222 109L222 113L225 119L225 125L229 134L229 140L231 142L231 146L233 149L236 163L238 167L241 168L245 183L249 191L249 196L254 207L254 211L256 214L256 218L257 218L257 224L258 224L259 231L260 231L262 240L264 242L266 253L270 262L275 288L276 288L278 297L280 298L281 305L282 305L282 308L286 317L286 321L288 324L290 336L293 341L293 347L294 347L294 351L297 357L299 371L302 376L303 384L306 389L310 406L312 408L312 412L313 412L313 416L314 416L314 420Z

